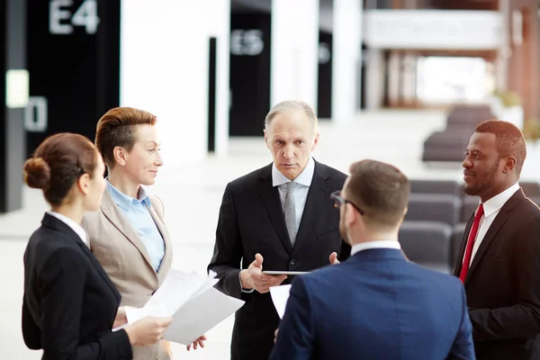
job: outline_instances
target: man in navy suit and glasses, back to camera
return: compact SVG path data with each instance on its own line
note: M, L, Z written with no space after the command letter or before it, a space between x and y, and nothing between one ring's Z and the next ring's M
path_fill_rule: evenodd
M474 359L463 285L401 253L409 179L374 160L350 173L332 198L351 257L294 279L270 359Z

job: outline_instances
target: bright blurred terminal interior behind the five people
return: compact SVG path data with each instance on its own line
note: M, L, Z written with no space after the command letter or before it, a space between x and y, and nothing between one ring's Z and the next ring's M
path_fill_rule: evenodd
M479 202L462 193L476 124L523 131L520 184L540 204L539 3L0 0L0 359L42 354L23 342L23 252L49 205L23 161L57 132L94 140L116 106L157 115L164 166L148 192L164 202L172 268L206 275L225 186L272 162L266 112L296 99L318 113L317 161L347 174L381 160L410 178L401 247L452 274ZM173 344L175 359L228 359L233 321L202 349Z

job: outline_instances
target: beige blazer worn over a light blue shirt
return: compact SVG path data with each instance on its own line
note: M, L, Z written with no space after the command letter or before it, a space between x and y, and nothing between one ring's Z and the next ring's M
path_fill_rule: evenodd
M144 306L163 284L173 260L173 247L164 223L163 202L157 196L148 196L150 214L165 241L165 256L157 273L151 266L142 239L107 191L103 193L101 209L87 212L82 221L90 249L121 293L121 306ZM168 360L171 357L170 345L166 341L151 347L133 347L134 360Z

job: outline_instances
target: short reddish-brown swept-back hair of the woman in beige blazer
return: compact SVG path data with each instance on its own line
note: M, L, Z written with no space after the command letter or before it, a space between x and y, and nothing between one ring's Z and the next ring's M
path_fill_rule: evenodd
M156 115L132 107L115 107L97 121L95 147L102 154L105 165L114 166L114 148L131 151L135 145L135 125L155 125Z

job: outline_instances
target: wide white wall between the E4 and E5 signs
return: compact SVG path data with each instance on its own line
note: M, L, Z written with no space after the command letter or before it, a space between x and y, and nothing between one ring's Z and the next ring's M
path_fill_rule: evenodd
M229 4L229 0L121 2L121 105L157 115L169 166L206 156L209 38L216 35L217 149L227 148Z

